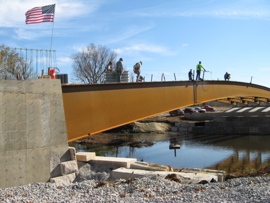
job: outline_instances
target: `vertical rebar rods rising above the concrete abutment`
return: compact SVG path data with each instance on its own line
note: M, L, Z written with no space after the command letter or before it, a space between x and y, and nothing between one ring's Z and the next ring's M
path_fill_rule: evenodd
M0 46L0 80L36 79L56 67L55 50Z

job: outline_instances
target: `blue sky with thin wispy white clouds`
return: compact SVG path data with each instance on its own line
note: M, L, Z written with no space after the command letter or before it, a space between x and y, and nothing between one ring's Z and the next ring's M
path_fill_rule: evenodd
M56 4L54 23L25 24L27 10ZM0 0L0 44L56 50L72 80L70 56L105 45L127 70L142 61L145 81L187 80L199 61L208 80L270 87L270 0Z

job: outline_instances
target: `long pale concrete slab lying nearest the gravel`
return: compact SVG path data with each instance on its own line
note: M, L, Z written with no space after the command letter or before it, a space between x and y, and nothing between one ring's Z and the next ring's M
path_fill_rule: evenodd
M212 179L218 180L217 175L199 173L199 172L170 172L170 171L150 171L150 170L139 170L139 169L126 169L119 168L111 171L111 179L128 179L138 178L145 175L159 175L165 178L168 174L176 174L177 178L180 179L181 184L197 184L202 180L210 182Z

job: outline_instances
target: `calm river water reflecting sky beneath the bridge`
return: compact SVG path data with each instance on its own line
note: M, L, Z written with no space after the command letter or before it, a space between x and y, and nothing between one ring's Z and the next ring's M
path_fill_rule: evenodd
M136 158L137 161L171 166L225 170L245 173L270 165L270 135L187 135L127 134L118 135L132 141L152 141L153 146L73 144L79 152L96 152L97 156ZM170 145L181 145L170 149Z

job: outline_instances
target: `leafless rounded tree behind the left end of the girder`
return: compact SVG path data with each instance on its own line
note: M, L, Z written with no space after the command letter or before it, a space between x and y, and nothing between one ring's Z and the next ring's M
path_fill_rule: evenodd
M117 54L103 45L90 43L81 52L73 54L73 75L76 80L86 83L103 83L104 72L109 62L115 64Z

